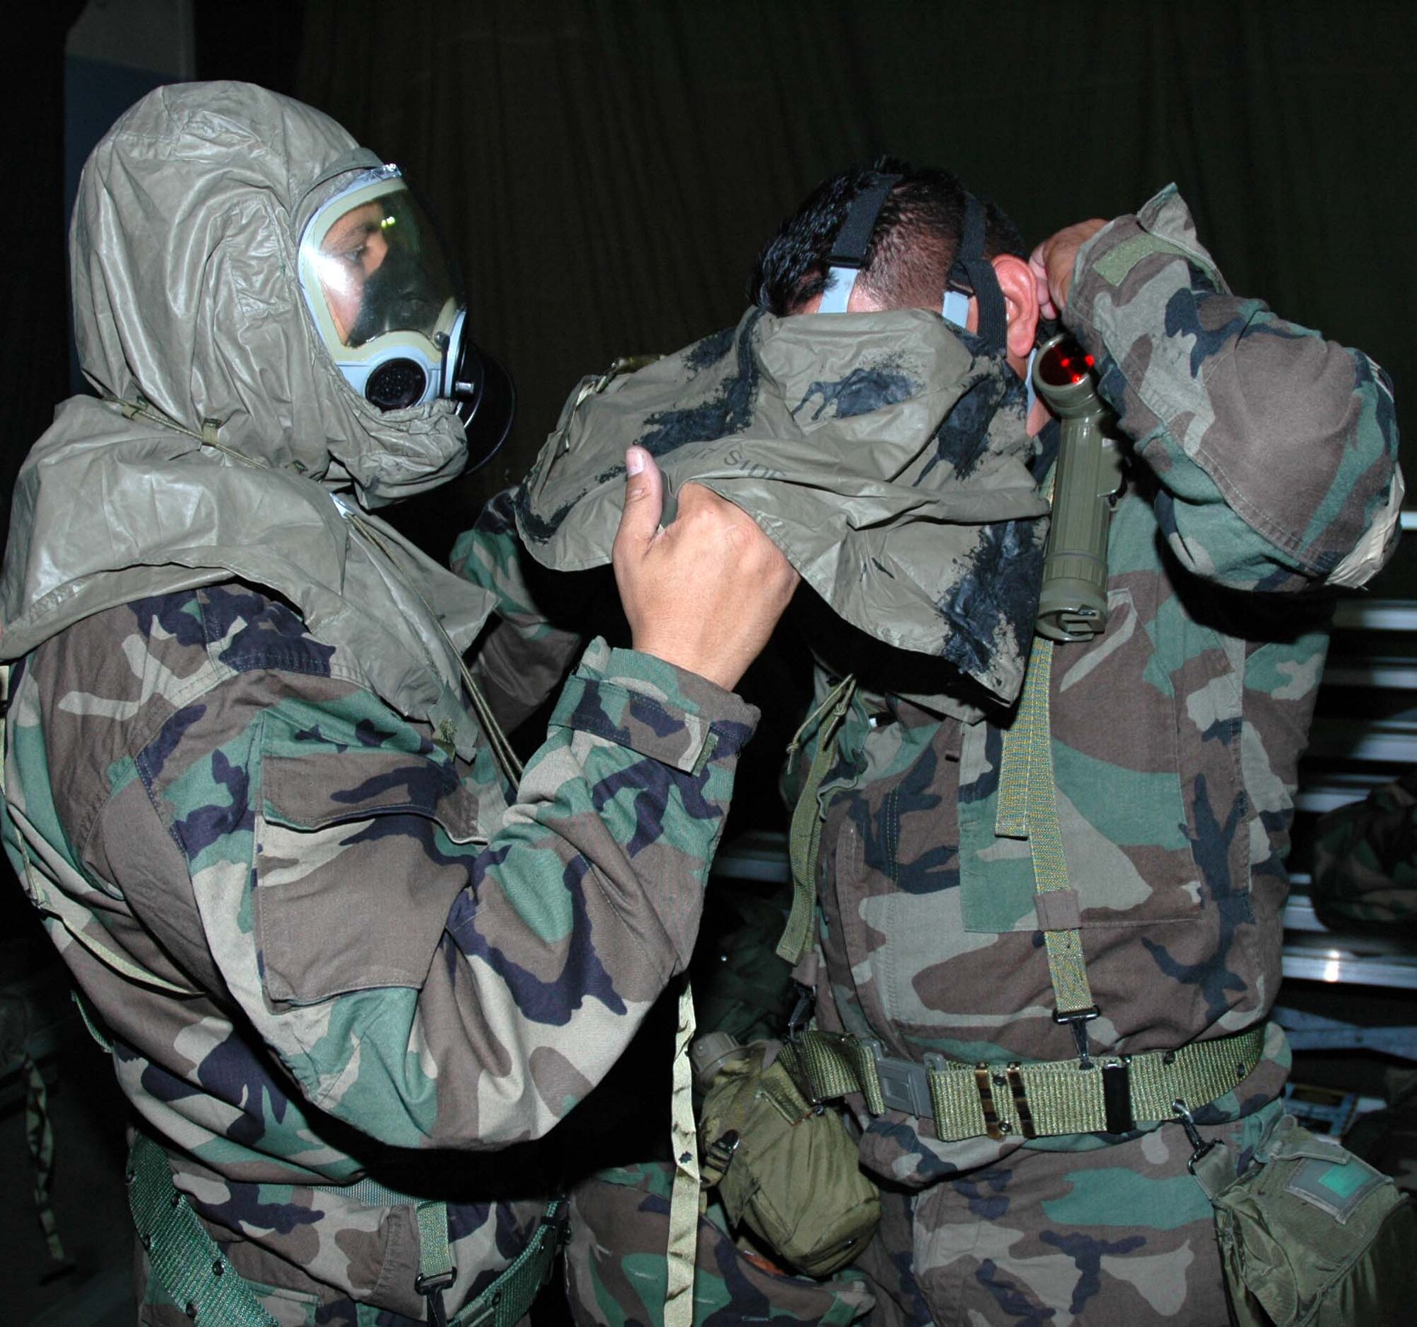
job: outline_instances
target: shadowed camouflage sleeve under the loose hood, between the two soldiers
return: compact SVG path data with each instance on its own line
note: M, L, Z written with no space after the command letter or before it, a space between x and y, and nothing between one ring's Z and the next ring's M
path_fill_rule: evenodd
M526 551L512 516L513 492L497 493L452 550L452 570L497 597L497 621L478 649L472 673L509 732L560 686L584 644L578 631L550 620L527 584Z

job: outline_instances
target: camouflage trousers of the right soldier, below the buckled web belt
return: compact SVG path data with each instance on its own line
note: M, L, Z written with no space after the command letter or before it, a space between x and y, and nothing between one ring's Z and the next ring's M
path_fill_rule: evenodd
M1274 1102L1203 1126L1241 1168ZM1226 1327L1214 1215L1166 1124L1085 1151L1034 1147L917 1192L886 1189L859 1263L829 1282L788 1276L737 1248L717 1206L699 1222L696 1327ZM669 1168L605 1171L572 1194L567 1283L577 1324L662 1321Z

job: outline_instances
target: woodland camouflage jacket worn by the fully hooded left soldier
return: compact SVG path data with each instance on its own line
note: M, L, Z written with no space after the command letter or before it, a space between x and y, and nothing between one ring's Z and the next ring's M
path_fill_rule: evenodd
M191 992L51 927L119 1082L238 1270L319 1294L322 1321L422 1299L414 1208L316 1187L449 1199L451 1306L521 1250L561 1181L527 1140L686 965L754 722L595 642L513 797L485 749L449 756L359 675L228 583L52 638L9 723L40 888Z

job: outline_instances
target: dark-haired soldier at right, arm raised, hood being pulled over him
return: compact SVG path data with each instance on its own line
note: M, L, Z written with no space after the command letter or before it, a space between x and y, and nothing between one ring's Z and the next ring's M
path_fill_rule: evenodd
M1226 1321L1190 1170L1234 1180L1284 1136L1267 1015L1315 591L1394 546L1390 386L1233 295L1175 189L1029 254L954 176L883 160L784 223L750 298L737 329L571 411L514 505L540 561L604 561L598 452L638 441L672 486L750 510L815 591L794 608L816 705L778 950L815 998L774 1053L805 1110L845 1100L880 1225L813 1300L710 1208L699 1320ZM1102 611L1047 646L1043 318L1080 343L1051 367L1094 377L1122 458ZM703 1143L723 1175L748 1164L747 1137ZM660 1187L645 1167L578 1192L581 1321L652 1300Z

